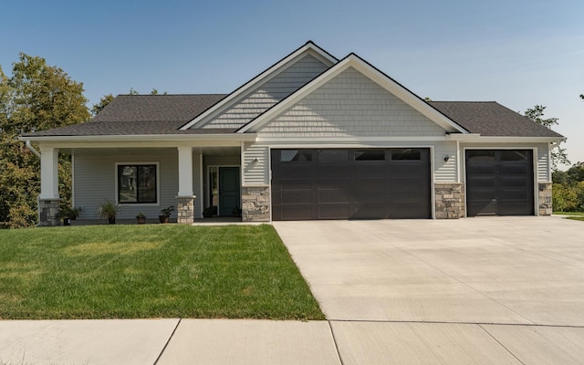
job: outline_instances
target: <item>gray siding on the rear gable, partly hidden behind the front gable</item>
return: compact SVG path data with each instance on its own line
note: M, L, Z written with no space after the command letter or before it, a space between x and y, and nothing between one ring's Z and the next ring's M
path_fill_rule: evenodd
M300 89L308 81L316 78L328 67L316 57L307 55L285 68L265 84L246 94L235 105L203 128L239 128L259 114L274 106L278 101Z

